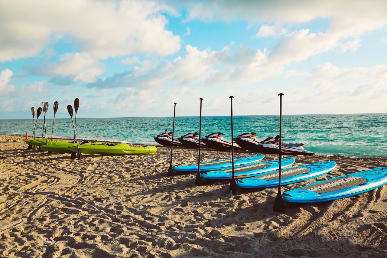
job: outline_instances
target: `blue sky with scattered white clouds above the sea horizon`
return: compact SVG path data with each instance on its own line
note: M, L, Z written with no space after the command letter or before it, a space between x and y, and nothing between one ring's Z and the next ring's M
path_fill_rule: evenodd
M0 1L0 119L387 112L387 1Z

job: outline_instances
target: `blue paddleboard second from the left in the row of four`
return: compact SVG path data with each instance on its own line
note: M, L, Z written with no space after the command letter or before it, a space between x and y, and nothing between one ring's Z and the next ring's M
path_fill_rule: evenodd
M281 168L289 167L295 163L294 158L283 158L281 160ZM279 160L272 160L272 161L265 161L265 162L259 162L254 165L245 166L245 167L234 167L234 174L235 178L246 178L246 177L252 177L254 175L273 171L279 168ZM226 170L218 170L218 171L210 171L210 172L203 172L200 173L200 176L207 179L231 179L232 169L226 169Z

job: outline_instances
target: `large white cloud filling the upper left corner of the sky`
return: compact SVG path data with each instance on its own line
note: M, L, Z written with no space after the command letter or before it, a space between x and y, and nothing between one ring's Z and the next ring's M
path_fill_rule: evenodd
M0 62L38 55L60 38L98 58L170 55L179 50L180 37L165 28L161 12L174 14L151 1L0 1Z

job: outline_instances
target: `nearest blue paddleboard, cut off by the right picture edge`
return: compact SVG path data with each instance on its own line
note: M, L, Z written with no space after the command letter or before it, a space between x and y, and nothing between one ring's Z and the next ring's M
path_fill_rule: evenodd
M317 203L332 201L371 191L387 183L387 167L332 177L283 193L285 201Z

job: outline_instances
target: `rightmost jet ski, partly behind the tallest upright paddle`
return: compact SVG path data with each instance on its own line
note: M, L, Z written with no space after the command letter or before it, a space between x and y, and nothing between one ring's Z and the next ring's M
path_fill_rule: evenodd
M269 137L266 140L256 145L257 150L267 154L278 154L280 142L279 135L277 135L276 138ZM281 145L283 155L315 155L315 153L313 153L312 151L304 150L303 146L305 144L303 143L285 143L284 141L281 141Z

